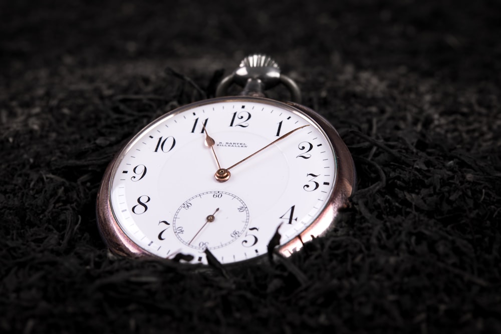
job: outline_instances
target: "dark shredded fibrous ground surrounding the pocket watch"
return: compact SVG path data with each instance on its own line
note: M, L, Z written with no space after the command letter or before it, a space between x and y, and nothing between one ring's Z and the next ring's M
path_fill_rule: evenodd
M501 332L500 13L2 1L0 331ZM110 256L95 198L113 154L250 52L273 55L354 155L338 228L291 258L300 273Z

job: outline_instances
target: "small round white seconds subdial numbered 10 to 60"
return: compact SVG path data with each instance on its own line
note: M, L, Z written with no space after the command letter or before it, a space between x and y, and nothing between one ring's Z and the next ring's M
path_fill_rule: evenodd
M248 222L247 205L239 197L226 191L206 191L179 206L173 227L179 241L204 250L224 247L238 239Z

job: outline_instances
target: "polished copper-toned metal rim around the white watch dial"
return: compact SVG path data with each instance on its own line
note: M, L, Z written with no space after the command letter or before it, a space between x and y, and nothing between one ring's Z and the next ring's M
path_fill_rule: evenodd
M303 106L298 103L293 102L280 102L277 100L264 98L264 97L250 97L250 96L229 96L229 97L216 97L211 99L206 99L203 101L193 102L175 110L160 116L154 121L150 122L143 129L141 129L113 158L110 162L103 176L101 182L101 187L97 195L97 218L100 233L103 239L106 241L109 249L121 256L129 257L142 257L142 256L152 256L157 257L144 248L133 242L127 234L120 227L117 221L113 209L111 207L111 181L113 175L116 173L116 169L120 161L124 158L127 151L137 141L143 133L151 127L153 124L163 121L167 118L173 117L174 115L189 110L193 107L205 105L208 103L216 102L229 102L229 101L254 101L262 102L271 105L277 105L285 109L289 109L294 112L299 112L310 119L313 123L324 132L326 137L329 139L332 148L334 150L336 159L336 175L334 180L334 187L330 193L329 199L326 201L326 205L322 209L321 213L315 218L315 220L307 226L298 236L292 238L287 243L279 247L279 251L285 255L289 256L295 251L299 250L303 246L303 242L309 241L312 237L322 236L329 229L334 227L335 218L337 217L340 208L346 205L346 200L352 194L355 187L355 167L353 164L353 159L351 154L346 147L345 143L339 136L336 129L321 115L313 111L312 109ZM259 261L264 255L247 259L240 262L248 261ZM235 262L239 263L239 262ZM229 263L228 263L229 264Z

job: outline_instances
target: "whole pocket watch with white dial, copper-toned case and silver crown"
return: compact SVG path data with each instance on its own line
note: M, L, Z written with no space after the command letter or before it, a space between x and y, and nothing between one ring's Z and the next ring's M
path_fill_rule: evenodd
M228 87L243 87L225 96ZM265 97L279 84L292 102ZM259 260L278 232L288 256L326 233L355 186L334 127L299 104L297 84L269 56L252 54L216 97L157 118L111 161L97 197L98 225L124 256L207 264Z

